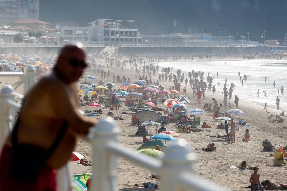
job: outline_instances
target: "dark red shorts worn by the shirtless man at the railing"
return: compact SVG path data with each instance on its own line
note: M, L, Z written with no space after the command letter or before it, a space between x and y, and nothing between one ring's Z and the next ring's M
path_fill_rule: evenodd
M12 165L12 147L4 145L0 157L0 191L33 190L33 191L56 191L56 171L45 165L40 170L37 180L34 183L26 183L15 180L10 175ZM29 164L23 164L29 165Z

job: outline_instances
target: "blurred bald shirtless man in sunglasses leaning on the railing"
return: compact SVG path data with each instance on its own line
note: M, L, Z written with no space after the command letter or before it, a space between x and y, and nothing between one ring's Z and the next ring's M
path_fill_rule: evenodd
M65 46L52 74L42 77L30 90L23 103L18 125L14 127L14 132L17 134L12 136L10 133L4 143L0 158L0 177L2 177L0 190L39 190L39 188L41 190L56 190L54 169L61 168L70 160L77 135L86 135L88 129L94 125L92 121L84 119L78 112L74 83L82 76L86 66L85 53L81 48L75 45ZM55 98L56 95L57 98ZM62 136L60 132L63 133ZM23 170L17 173L25 174L22 174L21 178L11 175L11 168L17 165L12 164L15 145L28 144L30 148L31 145L35 145L47 153L58 136L61 138L47 160L43 160L44 163L36 180L28 182L21 179L28 176L26 173L35 167L32 163L21 164L22 161L19 161L19 164L22 165L20 168ZM13 144L12 137L15 137ZM29 153L32 153L29 149L21 151L17 152L21 158L29 160L30 157L31 160L35 160L34 157L28 156ZM36 151L33 152L33 156L38 159L40 153ZM27 169L23 167L24 165L27 165Z

